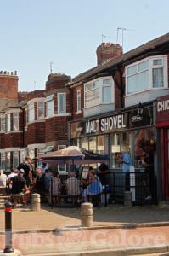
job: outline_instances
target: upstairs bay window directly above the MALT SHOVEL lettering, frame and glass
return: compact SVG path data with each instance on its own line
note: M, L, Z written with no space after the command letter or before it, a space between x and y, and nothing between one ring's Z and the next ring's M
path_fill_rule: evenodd
M84 84L85 108L114 102L112 87L113 80L110 77L95 79Z

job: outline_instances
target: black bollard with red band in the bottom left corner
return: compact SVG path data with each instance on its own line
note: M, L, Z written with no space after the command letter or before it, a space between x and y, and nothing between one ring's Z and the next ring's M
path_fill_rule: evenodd
M12 247L12 203L5 203L5 248L4 253L14 253Z

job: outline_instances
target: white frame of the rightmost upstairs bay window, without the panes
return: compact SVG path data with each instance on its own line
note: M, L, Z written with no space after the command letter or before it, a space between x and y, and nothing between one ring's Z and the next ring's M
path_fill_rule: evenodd
M162 65L153 65L153 61L155 60L162 60ZM149 87L145 90L138 90L138 91L135 91L135 92L132 92L132 93L127 93L127 78L134 75L134 74L130 74L130 75L127 75L127 68L130 68L130 67L134 67L134 66L137 66L137 70L138 70L138 64L144 62L144 61L149 61L149 68L146 69L149 71ZM163 86L162 87L153 87L153 69L154 68L160 68L162 67L163 68ZM144 70L145 71L145 70ZM142 73L143 71L141 72L137 72L137 73ZM137 74L135 73L135 74ZM125 67L125 77L126 77L126 96L132 96L132 95L135 95L135 94L138 94L138 93L141 93L141 92L144 92L144 91L147 91L147 90L161 90L161 89L166 89L168 88L168 80L167 80L167 55L155 55L155 56L151 56L151 57L148 57L148 58L144 58L142 59L141 61L137 61L137 62L134 62L130 65L128 65L127 67Z

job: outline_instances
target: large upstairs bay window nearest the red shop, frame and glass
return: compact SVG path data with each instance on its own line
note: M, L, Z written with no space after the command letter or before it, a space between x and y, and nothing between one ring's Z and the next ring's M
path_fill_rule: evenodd
M154 56L126 67L126 95L167 88L167 57Z

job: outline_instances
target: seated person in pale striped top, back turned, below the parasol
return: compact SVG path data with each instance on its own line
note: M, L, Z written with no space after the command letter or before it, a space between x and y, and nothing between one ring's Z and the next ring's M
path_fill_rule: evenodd
M67 195L80 195L80 181L76 178L75 172L70 172L69 178L65 181Z

